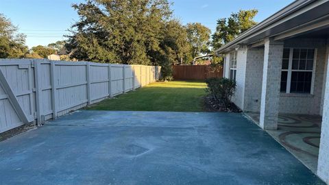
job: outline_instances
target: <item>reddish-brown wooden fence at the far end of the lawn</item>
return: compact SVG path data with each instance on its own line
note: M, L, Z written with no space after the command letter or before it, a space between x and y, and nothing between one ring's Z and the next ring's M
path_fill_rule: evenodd
M206 79L223 77L223 69L213 70L210 66L172 66L174 79Z

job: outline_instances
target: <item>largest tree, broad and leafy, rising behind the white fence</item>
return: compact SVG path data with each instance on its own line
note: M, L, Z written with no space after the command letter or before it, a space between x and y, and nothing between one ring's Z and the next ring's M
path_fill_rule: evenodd
M151 64L160 31L171 16L167 0L90 0L73 5L80 21L66 47L73 58L94 62Z

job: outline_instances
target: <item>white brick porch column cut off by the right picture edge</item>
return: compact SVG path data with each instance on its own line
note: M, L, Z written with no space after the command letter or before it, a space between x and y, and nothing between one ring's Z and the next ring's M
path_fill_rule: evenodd
M327 43L327 51L329 49L328 46L329 45ZM329 60L327 62L329 62ZM329 184L329 64L327 65L326 74L326 86L324 90L324 110L322 114L319 160L317 162L317 175L319 175L319 177L324 180L324 182Z

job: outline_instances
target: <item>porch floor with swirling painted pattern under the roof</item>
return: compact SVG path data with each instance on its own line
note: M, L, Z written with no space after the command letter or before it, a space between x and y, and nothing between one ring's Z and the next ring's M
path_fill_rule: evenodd
M259 125L258 113L247 113L247 116ZM267 132L313 173L317 172L321 116L280 114L278 130L267 130Z

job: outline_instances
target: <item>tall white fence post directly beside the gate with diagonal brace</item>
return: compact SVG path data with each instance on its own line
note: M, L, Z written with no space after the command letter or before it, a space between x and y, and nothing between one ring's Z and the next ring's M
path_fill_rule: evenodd
M41 89L41 61L34 60L34 82L36 84L36 123L41 125L43 121L41 120L42 104L40 98L42 96Z

